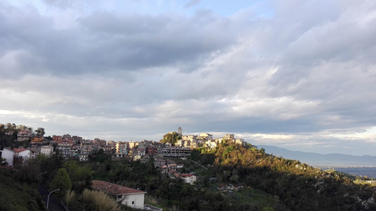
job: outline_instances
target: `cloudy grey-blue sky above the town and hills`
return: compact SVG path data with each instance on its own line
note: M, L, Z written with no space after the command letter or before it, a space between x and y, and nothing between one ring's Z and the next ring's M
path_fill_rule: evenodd
M374 0L0 0L0 122L376 155Z

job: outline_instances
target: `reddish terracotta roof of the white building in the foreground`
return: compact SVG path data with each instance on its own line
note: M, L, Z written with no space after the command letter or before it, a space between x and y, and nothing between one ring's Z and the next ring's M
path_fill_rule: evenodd
M92 188L96 190L102 190L114 195L146 193L146 191L136 190L105 181L93 180L91 182L93 183Z

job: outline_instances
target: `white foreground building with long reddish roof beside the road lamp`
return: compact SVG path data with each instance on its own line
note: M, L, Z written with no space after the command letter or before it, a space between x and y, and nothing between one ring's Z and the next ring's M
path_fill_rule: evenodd
M105 181L93 180L92 188L116 196L118 202L133 208L144 209L146 191L136 190Z

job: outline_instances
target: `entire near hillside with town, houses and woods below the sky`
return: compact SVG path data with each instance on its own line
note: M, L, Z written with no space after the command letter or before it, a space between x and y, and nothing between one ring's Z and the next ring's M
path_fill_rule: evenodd
M376 208L371 179L269 155L234 134L214 138L179 127L160 141L115 142L45 131L0 124L0 194L12 201L8 210L51 208L54 191L52 209L65 211ZM333 188L338 194L325 194Z

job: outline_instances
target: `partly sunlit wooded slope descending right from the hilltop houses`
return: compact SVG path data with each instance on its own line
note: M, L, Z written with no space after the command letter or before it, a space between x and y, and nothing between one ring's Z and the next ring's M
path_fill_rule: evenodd
M202 164L214 160L211 171L216 178L246 182L273 194L291 210L376 210L374 187L354 184L339 172L322 171L262 149L224 143L216 149L196 150L192 158Z

